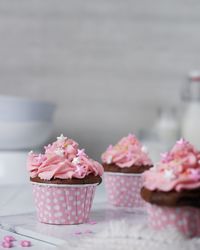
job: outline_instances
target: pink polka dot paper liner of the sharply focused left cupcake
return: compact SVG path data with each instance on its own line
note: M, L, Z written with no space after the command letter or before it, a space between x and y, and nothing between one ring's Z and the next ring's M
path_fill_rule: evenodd
M32 184L40 222L57 225L87 222L97 184Z

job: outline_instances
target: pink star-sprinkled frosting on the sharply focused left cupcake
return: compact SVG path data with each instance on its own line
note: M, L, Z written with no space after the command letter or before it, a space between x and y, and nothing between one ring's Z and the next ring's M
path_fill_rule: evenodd
M61 135L53 144L45 147L44 154L30 152L27 158L30 177L43 180L82 179L89 174L103 175L103 167L90 159L78 143Z

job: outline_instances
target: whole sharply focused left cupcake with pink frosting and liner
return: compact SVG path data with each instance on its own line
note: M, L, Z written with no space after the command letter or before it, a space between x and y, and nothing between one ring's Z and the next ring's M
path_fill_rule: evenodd
M44 154L30 152L27 159L38 220L49 224L86 222L96 186L102 181L102 165L63 135L44 149Z

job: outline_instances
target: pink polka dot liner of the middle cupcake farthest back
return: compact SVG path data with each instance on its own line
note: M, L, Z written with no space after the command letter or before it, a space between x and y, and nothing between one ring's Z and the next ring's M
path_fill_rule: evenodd
M111 205L123 208L144 208L146 203L140 196L142 177L140 174L104 174L108 201Z

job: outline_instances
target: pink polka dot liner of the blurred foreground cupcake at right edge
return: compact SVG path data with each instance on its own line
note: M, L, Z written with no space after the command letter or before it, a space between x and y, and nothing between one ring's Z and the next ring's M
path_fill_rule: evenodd
M161 207L148 204L148 220L155 230L175 228L186 237L200 236L200 209L194 207Z

